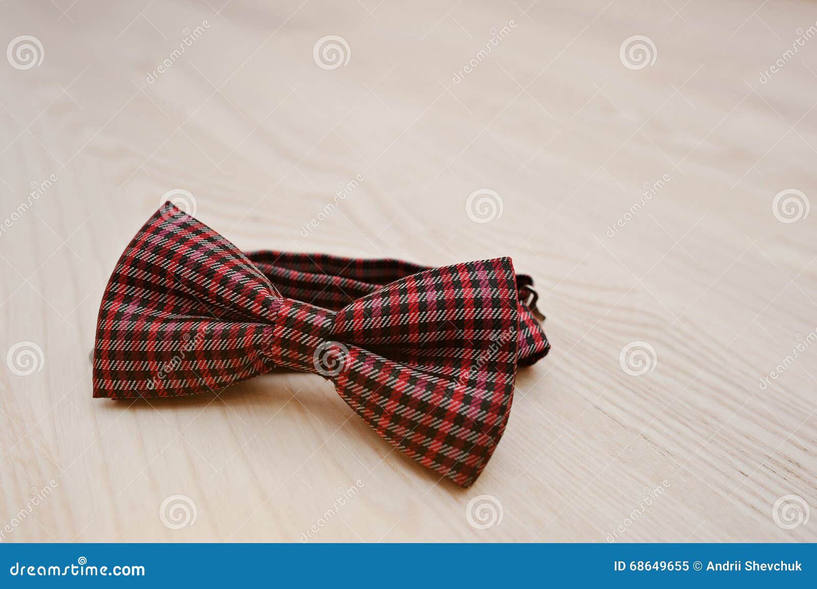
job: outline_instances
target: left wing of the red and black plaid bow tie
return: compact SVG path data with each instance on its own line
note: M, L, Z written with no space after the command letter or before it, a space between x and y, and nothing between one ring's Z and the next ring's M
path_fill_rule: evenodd
M136 233L105 287L94 396L179 396L264 374L280 294L207 225L165 203Z

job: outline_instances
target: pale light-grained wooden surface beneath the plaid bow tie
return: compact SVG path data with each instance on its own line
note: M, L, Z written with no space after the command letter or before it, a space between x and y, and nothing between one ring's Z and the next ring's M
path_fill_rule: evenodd
M2 46L44 52L0 60L0 352L43 353L0 365L2 541L817 540L817 514L772 516L785 495L817 509L817 214L773 213L817 195L814 4L528 4L0 4ZM316 64L326 35L348 64ZM654 64L625 67L632 35ZM174 188L247 250L533 275L553 349L520 370L477 484L392 452L313 374L92 399L105 281ZM502 215L480 224L481 188ZM632 342L655 351L641 376ZM181 529L159 516L175 494L196 508ZM489 529L466 517L482 494Z

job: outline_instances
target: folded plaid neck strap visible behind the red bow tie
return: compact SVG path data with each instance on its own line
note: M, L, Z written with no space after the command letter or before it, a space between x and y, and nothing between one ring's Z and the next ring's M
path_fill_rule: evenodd
M273 250L248 251L244 255L283 296L333 311L389 282L430 269L400 259L342 258ZM516 286L520 295L516 363L529 366L547 356L551 344L534 311L525 302L527 288L534 286L533 278L517 274Z

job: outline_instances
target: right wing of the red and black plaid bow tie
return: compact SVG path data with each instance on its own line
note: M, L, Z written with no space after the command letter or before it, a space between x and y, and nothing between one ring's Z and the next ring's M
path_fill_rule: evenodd
M433 268L334 317L337 392L392 445L468 487L505 430L516 378L509 258Z

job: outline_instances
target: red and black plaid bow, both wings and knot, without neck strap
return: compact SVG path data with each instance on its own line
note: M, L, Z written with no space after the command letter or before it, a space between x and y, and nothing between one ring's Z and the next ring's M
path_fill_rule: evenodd
M511 259L409 273L334 308L284 291L297 287L279 289L230 241L167 202L105 288L94 396L181 396L278 366L305 370L331 380L404 454L473 484L511 408L521 306Z

